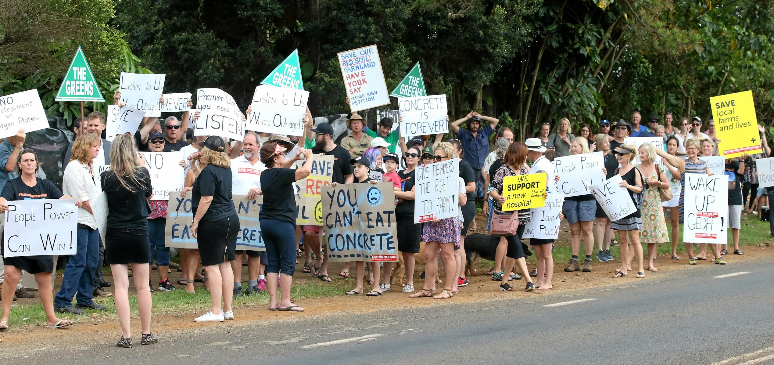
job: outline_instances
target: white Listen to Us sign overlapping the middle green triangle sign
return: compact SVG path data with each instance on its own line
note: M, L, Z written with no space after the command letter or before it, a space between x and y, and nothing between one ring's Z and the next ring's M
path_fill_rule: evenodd
M262 133L303 136L303 115L307 114L308 99L309 91L259 85L252 95L252 113L247 117L246 128Z

